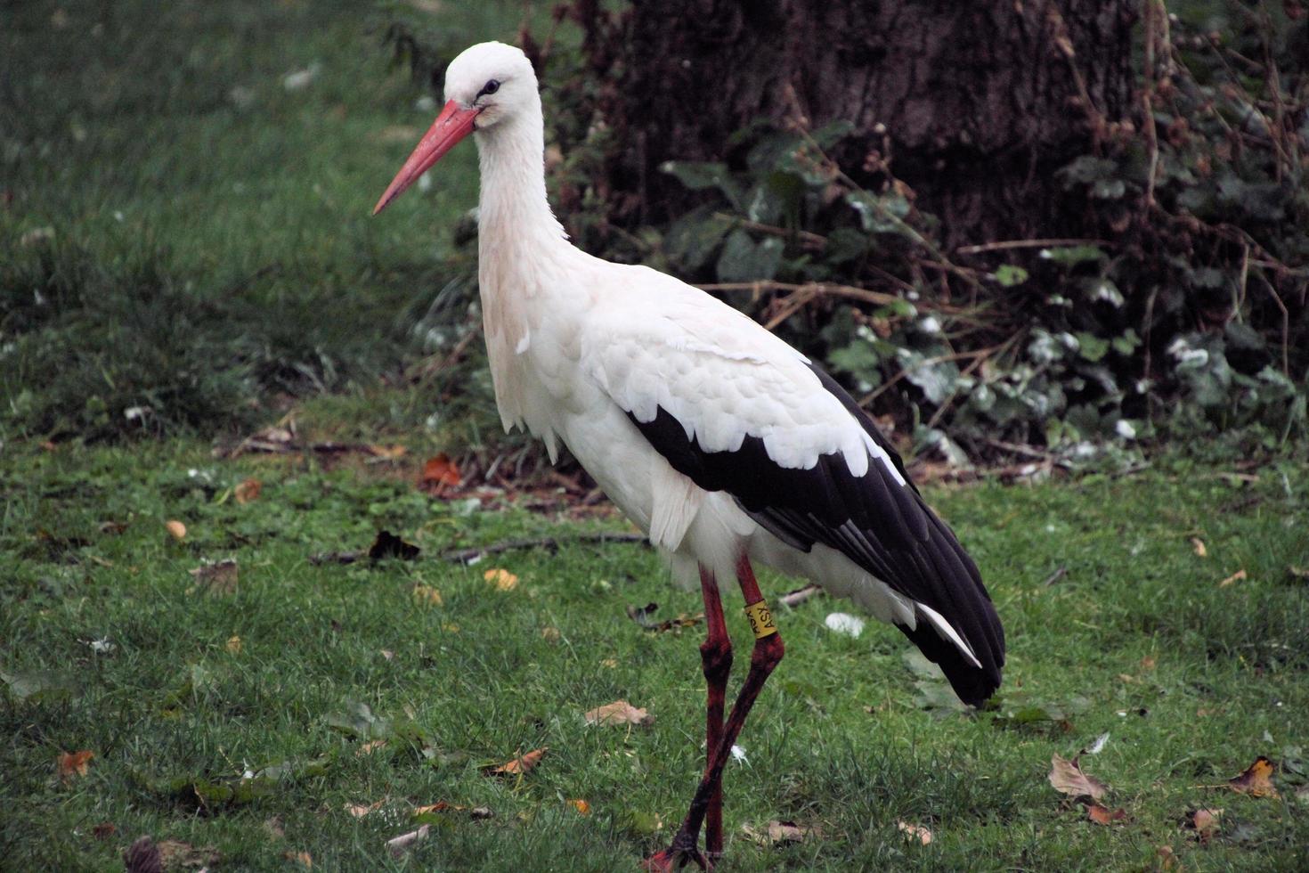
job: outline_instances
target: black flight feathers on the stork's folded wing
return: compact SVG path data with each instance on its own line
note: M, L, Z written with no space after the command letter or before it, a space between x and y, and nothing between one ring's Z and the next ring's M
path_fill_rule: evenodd
M787 544L802 551L816 542L830 546L894 590L939 613L973 648L980 670L936 632L922 610L915 630L897 627L941 666L965 703L980 704L1000 686L1004 628L977 564L923 501L899 454L873 420L827 373L812 369L822 387L886 452L903 486L877 458L869 459L869 471L863 476L852 475L839 454L821 455L806 470L780 467L758 436L747 435L736 452L706 452L662 407L651 421L630 418L674 470L706 491L730 493L746 514Z

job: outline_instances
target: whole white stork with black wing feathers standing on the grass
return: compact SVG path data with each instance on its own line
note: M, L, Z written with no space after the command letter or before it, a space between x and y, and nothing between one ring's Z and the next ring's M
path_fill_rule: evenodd
M541 98L520 50L467 48L445 99L373 212L474 135L478 279L505 429L541 437L551 461L567 446L674 573L700 582L706 770L672 846L645 866L708 866L723 851L724 764L783 654L753 561L895 624L971 704L1000 685L1004 631L977 565L831 377L698 288L568 242L546 199ZM719 580L733 576L755 645L724 721L732 647Z

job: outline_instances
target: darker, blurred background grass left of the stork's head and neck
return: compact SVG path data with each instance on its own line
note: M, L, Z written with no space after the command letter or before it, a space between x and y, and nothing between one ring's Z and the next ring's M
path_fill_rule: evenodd
M459 149L431 190L370 217L435 115L382 35L418 18L457 50L522 16L449 5L7 9L0 437L212 433L288 395L365 394L433 351L423 317L476 160Z

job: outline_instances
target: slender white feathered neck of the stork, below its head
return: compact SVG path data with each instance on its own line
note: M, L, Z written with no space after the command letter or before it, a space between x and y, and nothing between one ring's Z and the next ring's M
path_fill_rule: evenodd
M476 132L482 169L479 257L526 257L571 247L546 199L541 102Z

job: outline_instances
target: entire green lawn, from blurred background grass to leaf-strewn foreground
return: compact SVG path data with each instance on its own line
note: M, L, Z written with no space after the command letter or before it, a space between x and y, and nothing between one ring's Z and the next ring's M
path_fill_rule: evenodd
M449 326L429 315L473 148L368 217L433 111L387 64L385 22L425 16L453 50L512 38L522 7L10 7L0 868L120 869L151 835L174 842L170 869L632 869L702 766L703 626L656 632L627 610L695 615L699 596L644 546L579 541L627 530L614 516L415 486L452 428L479 442L476 414L394 378ZM291 406L314 438L408 453L220 461L195 436ZM170 438L120 438L139 429ZM952 705L891 628L827 630L838 602L778 609L788 654L726 774L721 869L1139 870L1160 847L1187 870L1302 869L1309 465L1191 457L929 490L1007 627L994 709ZM420 558L310 560L382 529ZM562 544L440 558L539 537ZM234 579L191 573L225 559ZM749 631L726 602L740 677ZM619 699L653 724L585 724ZM1111 787L1111 825L1047 781L1054 754L1105 733L1081 764ZM529 772L484 774L542 749ZM1259 755L1280 796L1228 789ZM1203 834L1182 827L1198 808L1223 810ZM772 821L810 830L770 844Z

